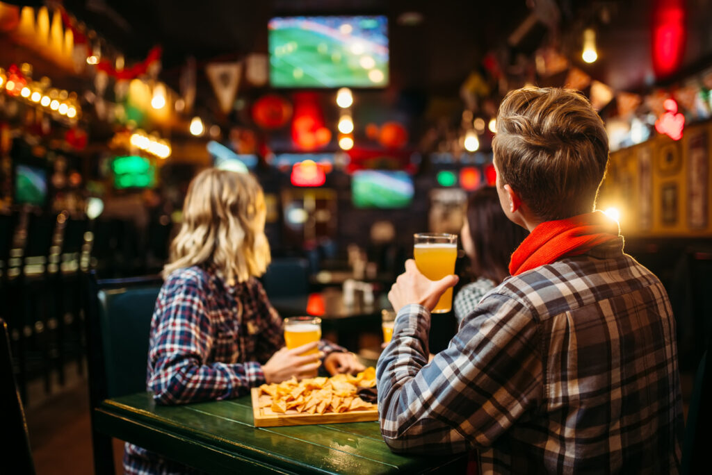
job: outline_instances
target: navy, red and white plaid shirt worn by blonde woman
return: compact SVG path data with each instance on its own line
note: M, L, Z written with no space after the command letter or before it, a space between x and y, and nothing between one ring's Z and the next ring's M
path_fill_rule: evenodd
M227 285L213 267L179 269L166 279L151 321L147 390L159 404L224 400L265 383L262 364L284 346L283 321L260 282ZM327 355L344 348L320 342ZM126 444L131 475L194 473Z

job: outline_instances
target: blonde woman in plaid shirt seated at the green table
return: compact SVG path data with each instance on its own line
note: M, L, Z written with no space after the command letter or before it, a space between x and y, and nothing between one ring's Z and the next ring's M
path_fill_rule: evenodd
M190 183L151 322L147 388L159 404L223 400L316 370L362 370L326 341L287 350L281 317L256 277L270 262L261 187L248 174L207 169ZM126 444L127 474L190 469Z

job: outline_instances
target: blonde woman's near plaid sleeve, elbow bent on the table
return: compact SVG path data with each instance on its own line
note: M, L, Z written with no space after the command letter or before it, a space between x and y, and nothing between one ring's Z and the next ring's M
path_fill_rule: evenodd
M169 279L161 290L149 349L148 389L156 402L228 399L264 383L259 363L205 363L215 343L205 301L195 279Z

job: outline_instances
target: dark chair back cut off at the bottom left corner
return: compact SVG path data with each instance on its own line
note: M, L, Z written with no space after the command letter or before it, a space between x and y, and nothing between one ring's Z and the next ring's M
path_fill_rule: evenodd
M15 383L7 325L0 319L0 444L3 470L9 474L34 474L30 439L22 401ZM4 472L3 472L4 473Z

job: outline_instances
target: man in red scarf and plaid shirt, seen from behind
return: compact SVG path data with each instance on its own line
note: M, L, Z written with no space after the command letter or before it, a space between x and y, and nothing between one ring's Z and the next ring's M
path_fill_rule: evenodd
M377 365L384 440L394 452L477 449L481 474L678 473L675 321L659 279L594 211L602 120L577 92L515 90L493 151L502 208L530 235L431 363L430 309L458 279L430 281L407 261Z

